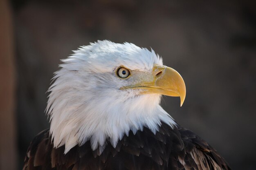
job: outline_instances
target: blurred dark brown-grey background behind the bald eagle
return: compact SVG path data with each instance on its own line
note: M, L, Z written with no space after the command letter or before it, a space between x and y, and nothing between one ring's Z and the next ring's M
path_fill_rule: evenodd
M161 55L187 95L162 106L234 170L256 167L256 1L0 0L0 170L22 169L48 128L47 88L60 59L97 40Z

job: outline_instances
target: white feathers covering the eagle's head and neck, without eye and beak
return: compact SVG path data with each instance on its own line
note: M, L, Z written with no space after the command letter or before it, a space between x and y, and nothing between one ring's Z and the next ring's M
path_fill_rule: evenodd
M161 95L119 90L138 81L118 78L119 66L151 73L154 64L162 65L152 49L104 40L82 46L62 62L47 103L54 147L65 145L67 153L90 140L93 150L102 150L106 140L115 147L130 130L136 133L145 126L155 133L161 121L175 125L159 106Z

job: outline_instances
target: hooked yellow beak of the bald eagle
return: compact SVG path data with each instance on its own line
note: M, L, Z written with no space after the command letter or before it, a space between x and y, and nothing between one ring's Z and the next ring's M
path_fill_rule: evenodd
M152 81L147 81L148 79ZM133 86L126 86L121 89L141 89L140 94L157 93L161 95L180 97L180 106L186 97L186 86L181 75L173 68L155 65L152 70L152 77L145 77L144 80Z

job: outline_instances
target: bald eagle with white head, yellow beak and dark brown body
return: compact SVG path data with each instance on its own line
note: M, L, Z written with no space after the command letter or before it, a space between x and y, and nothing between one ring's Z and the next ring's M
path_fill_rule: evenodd
M107 40L81 46L49 88L50 128L23 170L230 170L206 141L159 105L186 87L151 49Z

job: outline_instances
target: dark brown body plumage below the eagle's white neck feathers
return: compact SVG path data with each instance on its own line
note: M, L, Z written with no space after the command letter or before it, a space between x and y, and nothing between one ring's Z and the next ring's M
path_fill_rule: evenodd
M153 134L148 128L124 135L113 148L107 141L100 154L90 141L64 155L65 146L54 148L49 129L31 142L23 170L231 170L207 142L180 126L162 123Z

